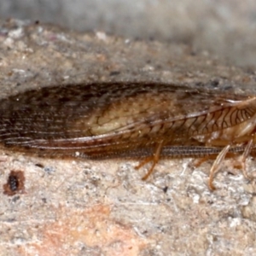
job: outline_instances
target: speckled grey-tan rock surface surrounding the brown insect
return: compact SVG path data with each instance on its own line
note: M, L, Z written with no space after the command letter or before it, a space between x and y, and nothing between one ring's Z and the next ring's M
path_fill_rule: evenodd
M162 81L255 93L253 68L183 44L79 34L20 20L0 23L1 98L58 84ZM0 117L1 118L1 117ZM253 255L255 181L225 160L161 160L147 181L137 160L50 160L1 150L1 255ZM253 159L247 169L253 172ZM24 187L7 195L12 171ZM13 184L15 185L15 184Z

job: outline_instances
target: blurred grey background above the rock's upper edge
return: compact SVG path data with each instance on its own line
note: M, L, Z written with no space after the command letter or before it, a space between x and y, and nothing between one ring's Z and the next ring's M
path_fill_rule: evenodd
M1 0L0 18L185 43L238 66L256 64L254 0Z

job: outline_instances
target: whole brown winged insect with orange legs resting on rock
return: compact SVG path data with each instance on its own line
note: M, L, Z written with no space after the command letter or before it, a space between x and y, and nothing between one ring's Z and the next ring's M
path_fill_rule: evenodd
M39 156L106 159L217 156L253 150L256 96L160 83L67 84L0 101L0 143Z

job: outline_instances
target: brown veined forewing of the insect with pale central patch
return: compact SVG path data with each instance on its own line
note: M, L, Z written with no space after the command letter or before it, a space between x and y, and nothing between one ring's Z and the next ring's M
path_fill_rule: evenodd
M167 144L245 122L255 98L156 83L55 86L0 102L0 141L9 147L88 154Z

